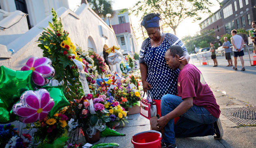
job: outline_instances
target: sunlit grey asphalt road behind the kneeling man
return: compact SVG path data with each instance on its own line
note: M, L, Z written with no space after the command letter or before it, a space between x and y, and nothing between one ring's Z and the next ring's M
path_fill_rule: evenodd
M246 70L242 72L240 61L237 62L237 71L232 67L226 67L228 62L225 57L217 56L217 61L218 67L212 67L213 60L208 60L209 65L200 65L199 60L190 59L190 63L196 65L202 72L211 89L256 106L256 66L251 66L249 61L244 61Z

